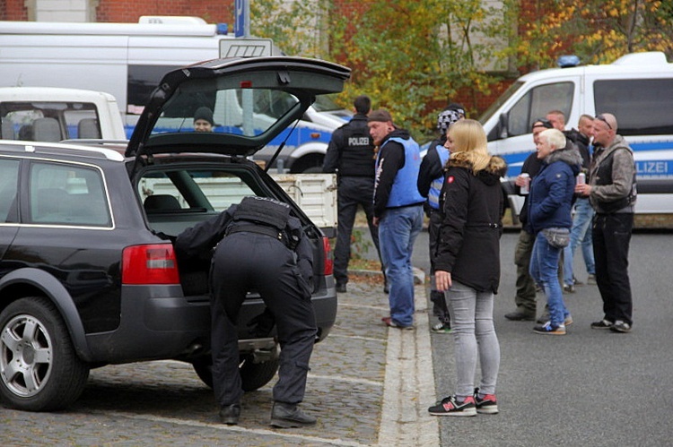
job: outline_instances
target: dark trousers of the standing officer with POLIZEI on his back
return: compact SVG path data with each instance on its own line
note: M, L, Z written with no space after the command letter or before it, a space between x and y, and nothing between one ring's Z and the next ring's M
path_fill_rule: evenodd
M371 241L379 254L379 229L374 227L373 177L343 176L337 190L337 245L334 248L334 279L337 284L348 282L348 261L351 258L351 236L357 206L362 205L367 217Z

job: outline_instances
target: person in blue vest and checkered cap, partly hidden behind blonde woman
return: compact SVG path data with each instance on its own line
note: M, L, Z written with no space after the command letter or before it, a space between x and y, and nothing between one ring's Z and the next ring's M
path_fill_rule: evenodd
M446 305L444 292L435 288L434 284L434 254L437 249L440 235L441 212L440 192L444 183L444 166L449 159L449 150L444 147L446 131L449 126L465 117L465 109L459 104L450 104L437 118L437 129L440 138L430 143L418 173L418 192L427 197L424 203L428 222L428 241L430 243L430 301L433 302L433 314L440 322L431 328L435 333L449 333L451 330L449 309Z

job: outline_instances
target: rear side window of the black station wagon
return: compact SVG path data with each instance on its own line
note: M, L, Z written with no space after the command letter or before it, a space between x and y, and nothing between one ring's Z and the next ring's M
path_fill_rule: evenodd
M29 223L111 227L101 171L61 163L33 162L30 172Z

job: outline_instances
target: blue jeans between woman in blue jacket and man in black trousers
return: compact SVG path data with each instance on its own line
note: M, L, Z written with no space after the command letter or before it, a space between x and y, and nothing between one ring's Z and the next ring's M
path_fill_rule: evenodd
M577 199L577 202L575 202L575 217L572 219L570 230L570 244L564 248L564 284L566 285L572 285L574 282L572 280L572 258L577 245L581 244L581 254L584 257L584 264L587 266L587 273L590 275L596 274L590 228L593 213L589 199Z

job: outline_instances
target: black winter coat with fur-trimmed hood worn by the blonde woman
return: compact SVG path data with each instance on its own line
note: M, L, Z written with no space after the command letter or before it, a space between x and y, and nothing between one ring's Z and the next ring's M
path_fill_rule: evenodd
M442 187L444 215L435 270L449 271L452 280L476 291L497 293L504 206L500 177L507 165L491 157L488 167L475 176L464 154L451 154Z

